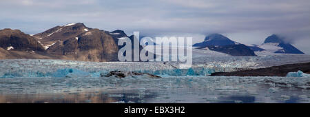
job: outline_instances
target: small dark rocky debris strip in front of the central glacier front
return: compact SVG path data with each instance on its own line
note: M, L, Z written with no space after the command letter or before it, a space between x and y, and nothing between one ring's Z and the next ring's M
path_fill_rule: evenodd
M148 74L148 73L138 73L138 72L123 72L123 71L111 71L108 74L101 74L101 77L110 77L115 76L118 78L125 78L127 76L149 76L151 78L161 78L161 76L156 76L154 74Z

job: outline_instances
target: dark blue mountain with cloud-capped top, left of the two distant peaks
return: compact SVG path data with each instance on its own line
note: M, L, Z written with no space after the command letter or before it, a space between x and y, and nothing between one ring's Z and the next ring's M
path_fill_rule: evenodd
M205 38L205 41L193 45L199 49L212 50L230 54L232 56L256 56L254 51L246 45L231 41L222 34L210 34Z

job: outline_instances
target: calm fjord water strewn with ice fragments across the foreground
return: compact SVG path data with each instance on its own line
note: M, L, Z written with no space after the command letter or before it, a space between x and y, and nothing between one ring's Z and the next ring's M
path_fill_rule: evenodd
M309 89L261 81L264 77L0 78L0 103L309 103Z

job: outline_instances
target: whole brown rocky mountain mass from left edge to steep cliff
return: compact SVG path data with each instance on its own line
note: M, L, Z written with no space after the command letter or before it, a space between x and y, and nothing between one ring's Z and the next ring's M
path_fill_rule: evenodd
M0 30L1 58L53 58L77 61L118 61L118 47L109 32L83 23L56 26L30 36Z

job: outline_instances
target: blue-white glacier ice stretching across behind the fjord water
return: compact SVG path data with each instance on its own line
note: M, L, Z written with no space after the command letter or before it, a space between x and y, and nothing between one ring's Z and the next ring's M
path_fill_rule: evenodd
M194 50L198 53L201 50ZM199 55L199 56L198 56ZM176 62L85 62L67 60L10 59L0 60L0 78L32 77L100 77L100 74L118 70L141 72L159 76L209 76L214 72L233 72L310 62L309 55L276 54L266 56L203 56L194 54L193 65L180 69ZM152 66L152 67L151 67Z

